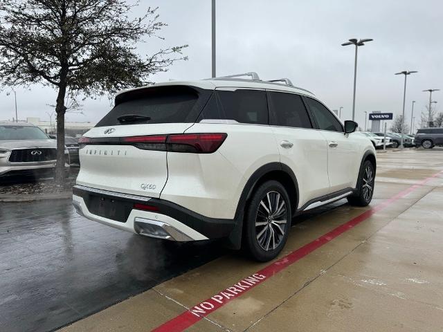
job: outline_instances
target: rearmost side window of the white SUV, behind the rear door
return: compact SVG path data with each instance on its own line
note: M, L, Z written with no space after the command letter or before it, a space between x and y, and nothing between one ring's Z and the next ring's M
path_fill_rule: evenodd
M197 121L235 120L240 123L269 124L266 93L259 90L216 90Z

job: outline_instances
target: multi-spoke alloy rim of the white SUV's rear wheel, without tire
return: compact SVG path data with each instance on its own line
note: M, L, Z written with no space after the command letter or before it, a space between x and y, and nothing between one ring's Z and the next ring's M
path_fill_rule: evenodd
M277 248L287 232L287 205L279 192L270 191L260 201L255 216L255 234L260 247Z

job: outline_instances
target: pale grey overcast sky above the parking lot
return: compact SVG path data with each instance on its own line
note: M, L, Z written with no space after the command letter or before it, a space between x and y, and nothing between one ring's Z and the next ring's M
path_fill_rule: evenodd
M141 8L159 6L169 26L139 47L149 54L161 47L189 44L189 60L177 62L154 82L210 77L210 0L141 0ZM443 90L443 2L438 0L217 0L217 75L256 71L262 79L289 77L294 85L313 91L330 109L343 107L342 119L352 114L354 46L350 38L372 38L359 48L356 121L363 127L364 111L401 113L403 75L408 76L406 118L416 100L416 123L428 103L424 89ZM443 103L443 91L434 93ZM30 86L17 89L19 119L48 120L46 104L55 91ZM12 95L0 93L0 120L15 116ZM435 104L434 104L435 105ZM437 105L437 110L443 109ZM107 98L86 100L84 116L67 121L96 122L109 111ZM410 122L409 122L410 123Z

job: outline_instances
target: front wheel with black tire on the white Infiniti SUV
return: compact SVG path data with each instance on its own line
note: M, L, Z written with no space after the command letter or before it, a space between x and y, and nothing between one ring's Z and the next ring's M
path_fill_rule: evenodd
M350 203L350 205L368 205L372 201L372 195L374 194L374 182L374 165L372 165L369 160L366 160L360 170L356 194L347 197L347 201Z

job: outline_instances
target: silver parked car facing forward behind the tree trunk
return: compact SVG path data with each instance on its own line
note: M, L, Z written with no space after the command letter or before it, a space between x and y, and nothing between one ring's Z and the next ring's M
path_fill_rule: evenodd
M64 149L65 167L69 152ZM10 176L52 177L57 142L29 123L0 122L0 178Z

